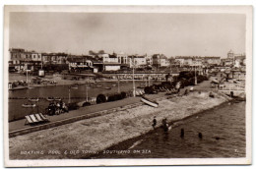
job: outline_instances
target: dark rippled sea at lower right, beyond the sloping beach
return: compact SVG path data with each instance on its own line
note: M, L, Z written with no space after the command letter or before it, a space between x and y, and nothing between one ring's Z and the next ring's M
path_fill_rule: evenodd
M91 158L245 157L245 102L224 103L179 124L167 133L158 128L120 142Z

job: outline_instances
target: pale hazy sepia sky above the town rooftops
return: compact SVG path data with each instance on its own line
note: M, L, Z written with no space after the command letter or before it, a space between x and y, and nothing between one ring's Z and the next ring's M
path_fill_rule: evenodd
M242 14L11 13L10 48L88 54L221 56L245 52Z

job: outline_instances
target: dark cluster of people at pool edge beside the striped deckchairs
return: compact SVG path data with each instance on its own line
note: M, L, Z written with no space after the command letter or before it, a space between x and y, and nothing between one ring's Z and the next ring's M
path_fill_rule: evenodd
M46 111L48 115L52 116L68 112L69 110L65 102L60 100L59 102L50 102L48 107L46 108Z

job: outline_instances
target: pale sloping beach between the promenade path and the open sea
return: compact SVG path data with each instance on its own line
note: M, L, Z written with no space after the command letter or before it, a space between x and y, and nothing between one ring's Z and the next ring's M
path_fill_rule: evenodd
M160 106L141 105L92 119L11 138L10 159L64 159L84 158L113 144L126 141L153 130L152 121L158 124L178 121L198 112L222 104L226 98L209 92L191 92L158 100ZM88 153L90 152L90 153Z

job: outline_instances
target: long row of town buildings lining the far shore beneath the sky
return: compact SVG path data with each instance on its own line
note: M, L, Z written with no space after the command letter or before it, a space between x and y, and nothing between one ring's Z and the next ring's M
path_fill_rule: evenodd
M124 52L91 53L90 55L71 55L63 52L39 53L22 48L10 48L9 70L25 72L26 70L89 70L91 72L131 71L136 69L152 69L161 71L171 68L214 68L245 66L245 54L227 52L226 58L221 56L175 56L164 54L128 55ZM49 69L48 69L49 68ZM172 69L173 71L173 69Z

